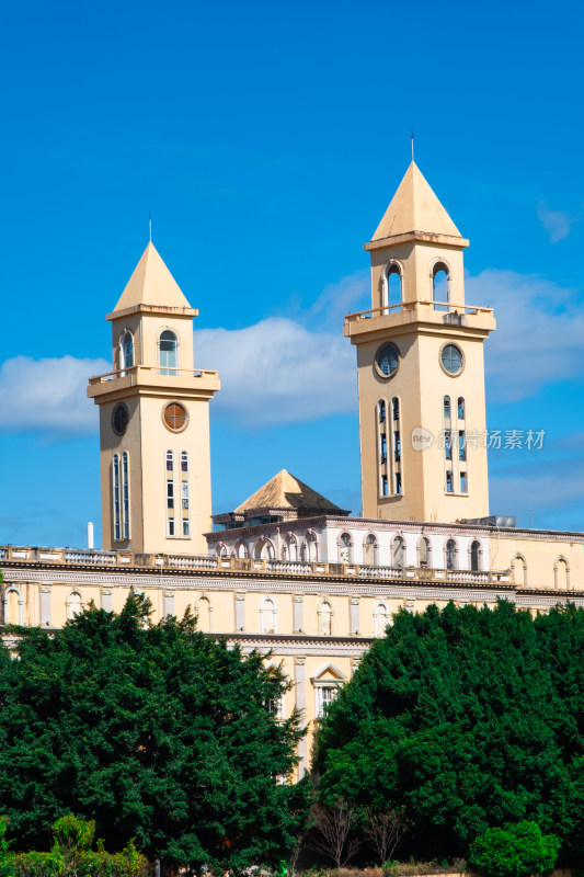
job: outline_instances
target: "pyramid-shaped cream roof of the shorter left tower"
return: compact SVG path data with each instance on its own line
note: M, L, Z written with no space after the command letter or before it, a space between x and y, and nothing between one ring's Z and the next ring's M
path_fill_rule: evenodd
M148 243L140 261L134 269L134 274L122 293L114 314L116 310L126 310L138 305L191 309L191 305L152 241Z

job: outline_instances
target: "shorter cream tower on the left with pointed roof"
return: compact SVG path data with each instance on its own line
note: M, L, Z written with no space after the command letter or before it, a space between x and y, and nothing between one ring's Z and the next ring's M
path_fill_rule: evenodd
M197 314L150 242L106 316L114 372L88 387L100 406L104 548L207 554L219 379L194 368Z

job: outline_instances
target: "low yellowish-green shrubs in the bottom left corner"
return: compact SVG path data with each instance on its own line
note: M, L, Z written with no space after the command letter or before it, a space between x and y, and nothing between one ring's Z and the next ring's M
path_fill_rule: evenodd
M5 842L7 820L0 818L0 877L150 877L152 868L129 841L121 853L106 853L94 822L73 816L53 827L55 842L47 853L12 853Z

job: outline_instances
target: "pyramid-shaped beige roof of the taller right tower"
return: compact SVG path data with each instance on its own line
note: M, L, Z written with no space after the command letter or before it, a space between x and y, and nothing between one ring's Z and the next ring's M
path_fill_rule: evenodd
M412 161L371 240L413 231L462 237Z

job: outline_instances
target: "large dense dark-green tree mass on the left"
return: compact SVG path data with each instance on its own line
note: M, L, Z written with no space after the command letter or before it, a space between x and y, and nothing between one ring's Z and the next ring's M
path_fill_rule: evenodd
M90 608L53 637L22 630L0 650L0 800L18 848L48 847L69 812L94 819L108 850L131 839L152 861L241 870L295 844L298 716L266 703L286 690L262 656L243 658L195 620L145 625Z

